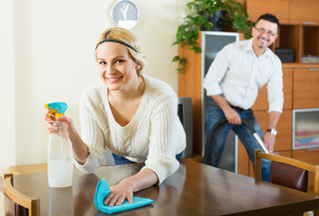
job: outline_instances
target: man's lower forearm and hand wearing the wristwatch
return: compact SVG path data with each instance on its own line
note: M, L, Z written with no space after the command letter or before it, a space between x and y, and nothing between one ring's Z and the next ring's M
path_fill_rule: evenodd
M280 118L281 112L269 112L269 123L267 129L275 129L277 130L278 121ZM275 135L270 134L269 132L266 132L264 134L264 142L266 148L269 149L269 153L272 153L274 151L275 146Z

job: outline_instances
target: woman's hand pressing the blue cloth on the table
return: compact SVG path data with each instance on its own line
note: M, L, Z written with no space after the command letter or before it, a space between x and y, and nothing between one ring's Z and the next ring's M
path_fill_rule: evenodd
M105 205L121 205L125 199L132 203L132 184L129 181L121 181L119 184L111 186L111 193L105 198Z

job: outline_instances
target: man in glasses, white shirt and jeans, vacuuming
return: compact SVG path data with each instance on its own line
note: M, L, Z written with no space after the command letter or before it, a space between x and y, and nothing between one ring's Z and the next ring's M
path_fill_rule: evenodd
M269 124L263 136L266 148L273 152L277 124L282 106L283 81L279 58L268 48L278 38L279 22L272 14L263 14L252 28L251 40L225 46L216 56L205 76L204 87L210 97L205 121L208 136L214 124L226 118L228 123L214 133L205 164L218 166L229 130L233 130L247 150L254 165L254 151L260 148L251 131L242 124L247 121L262 137L251 106L260 88L268 84ZM262 179L269 181L270 162L262 166Z

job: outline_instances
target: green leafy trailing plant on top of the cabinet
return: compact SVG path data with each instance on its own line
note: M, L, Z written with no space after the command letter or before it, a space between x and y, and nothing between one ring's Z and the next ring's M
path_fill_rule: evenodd
M202 51L196 41L201 30L214 31L219 25L231 22L232 29L243 32L246 38L251 38L252 23L248 20L248 14L243 11L242 4L235 0L193 0L187 4L187 7L190 13L178 26L176 41L173 43L173 45L180 44L182 48L181 55L172 59L173 62L178 61L178 73L186 72L187 59L183 51L186 45L196 53ZM220 19L214 19L216 15L219 15Z

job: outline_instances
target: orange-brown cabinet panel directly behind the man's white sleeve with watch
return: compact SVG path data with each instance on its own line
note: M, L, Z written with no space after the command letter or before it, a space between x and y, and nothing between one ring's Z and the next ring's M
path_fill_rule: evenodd
M284 82L284 109L291 109L292 107L292 68L283 68L283 82ZM254 111L266 111L269 109L267 85L260 89L256 102L252 106Z

